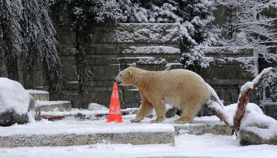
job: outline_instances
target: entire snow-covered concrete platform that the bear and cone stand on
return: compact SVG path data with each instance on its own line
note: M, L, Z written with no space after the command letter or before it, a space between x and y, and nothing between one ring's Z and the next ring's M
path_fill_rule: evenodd
M95 111L94 111L95 112ZM96 143L111 144L172 144L175 135L184 133L202 135L212 133L231 135L231 129L216 116L195 118L191 124L175 124L179 116L163 123L152 124L154 118L141 123L130 123L135 115L122 116L123 123L106 123L103 120L74 120L67 116L62 120L42 119L23 125L0 127L0 147L70 146ZM42 141L43 140L43 141Z

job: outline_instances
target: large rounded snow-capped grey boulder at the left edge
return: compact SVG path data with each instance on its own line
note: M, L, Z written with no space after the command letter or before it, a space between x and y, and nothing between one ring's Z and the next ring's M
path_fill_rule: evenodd
M0 77L0 126L24 124L39 116L38 104L21 84Z

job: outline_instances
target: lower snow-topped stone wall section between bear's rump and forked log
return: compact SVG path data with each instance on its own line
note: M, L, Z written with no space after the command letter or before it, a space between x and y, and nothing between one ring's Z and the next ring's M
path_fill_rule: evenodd
M225 105L237 103L240 88L257 74L253 49L232 51L224 47L203 48L209 67L196 71L210 84ZM250 103L259 103L258 91L249 97Z

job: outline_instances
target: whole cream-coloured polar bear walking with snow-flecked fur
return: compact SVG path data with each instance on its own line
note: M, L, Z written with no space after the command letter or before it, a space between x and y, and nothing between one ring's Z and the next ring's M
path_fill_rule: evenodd
M143 102L131 122L140 122L152 113L153 108L157 119L151 120L151 123L162 122L165 120L167 103L182 111L175 123L191 123L210 96L205 81L198 74L184 69L146 71L128 67L119 72L114 81L118 85L139 89Z

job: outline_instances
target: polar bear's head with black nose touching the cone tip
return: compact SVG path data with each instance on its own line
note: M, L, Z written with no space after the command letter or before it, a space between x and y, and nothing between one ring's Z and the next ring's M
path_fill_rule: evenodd
M133 73L135 67L128 67L119 72L119 74L115 77L114 82L121 86L133 85Z

